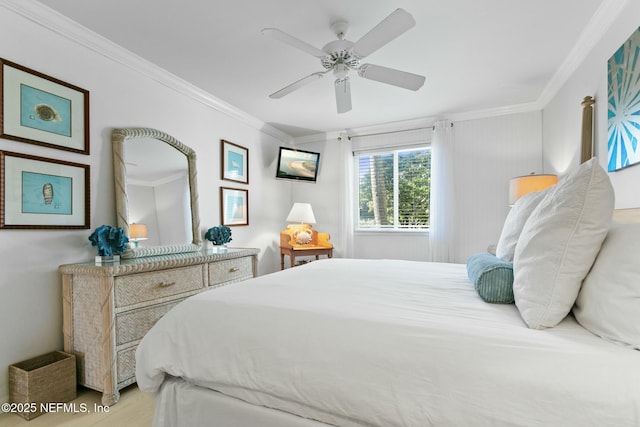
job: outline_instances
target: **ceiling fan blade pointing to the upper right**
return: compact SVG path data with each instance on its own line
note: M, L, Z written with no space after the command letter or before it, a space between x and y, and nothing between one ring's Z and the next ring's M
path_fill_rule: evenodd
M391 40L411 29L416 25L413 16L404 9L396 9L378 25L373 27L367 34L362 36L352 47L358 58L364 58L380 49Z

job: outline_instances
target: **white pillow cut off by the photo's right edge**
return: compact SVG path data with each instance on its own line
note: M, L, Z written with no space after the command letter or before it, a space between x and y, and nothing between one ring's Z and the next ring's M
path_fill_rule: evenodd
M640 350L640 224L613 224L573 308L594 334Z

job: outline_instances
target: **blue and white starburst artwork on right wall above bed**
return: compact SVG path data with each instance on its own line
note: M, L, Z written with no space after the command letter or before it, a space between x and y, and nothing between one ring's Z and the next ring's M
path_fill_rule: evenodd
M640 163L640 28L609 58L607 169Z

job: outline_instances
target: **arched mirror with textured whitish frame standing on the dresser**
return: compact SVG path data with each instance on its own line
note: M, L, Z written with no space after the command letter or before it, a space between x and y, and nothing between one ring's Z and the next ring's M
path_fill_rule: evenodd
M195 151L148 128L114 129L111 142L117 224L134 245L122 258L199 251Z

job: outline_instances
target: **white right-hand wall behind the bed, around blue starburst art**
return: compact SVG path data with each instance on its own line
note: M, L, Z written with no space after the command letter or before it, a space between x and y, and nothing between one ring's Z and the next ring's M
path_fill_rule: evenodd
M605 36L587 55L543 110L544 162L547 172L564 174L580 162L582 99L595 98L594 135L600 164L607 167L607 61L640 26L640 2L628 1ZM616 208L640 206L640 166L609 174Z

